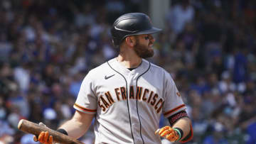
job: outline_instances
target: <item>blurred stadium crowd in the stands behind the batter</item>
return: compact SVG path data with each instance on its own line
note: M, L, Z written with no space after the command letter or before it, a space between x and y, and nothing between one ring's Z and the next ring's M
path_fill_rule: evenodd
M190 143L256 143L256 2L163 1L1 0L0 143L33 143L21 118L55 129L72 116L82 78L117 55L109 29L127 12L164 29L149 60L188 106ZM92 143L92 128L80 140Z

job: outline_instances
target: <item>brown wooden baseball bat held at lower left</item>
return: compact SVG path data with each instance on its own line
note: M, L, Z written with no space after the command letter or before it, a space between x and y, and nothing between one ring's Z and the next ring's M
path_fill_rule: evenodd
M18 122L18 130L26 133L31 133L33 135L36 135L37 137L41 133L41 131L48 131L49 135L53 135L53 143L85 144L80 142L79 140L76 140L75 138L71 138L68 135L60 133L58 131L54 131L45 126L39 126L37 123L33 123L25 119L21 119Z

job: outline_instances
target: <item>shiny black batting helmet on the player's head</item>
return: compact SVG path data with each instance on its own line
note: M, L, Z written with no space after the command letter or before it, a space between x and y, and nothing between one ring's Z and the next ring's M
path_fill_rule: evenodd
M119 16L111 28L112 40L119 46L129 35L158 33L161 29L152 26L149 16L144 13L127 13Z

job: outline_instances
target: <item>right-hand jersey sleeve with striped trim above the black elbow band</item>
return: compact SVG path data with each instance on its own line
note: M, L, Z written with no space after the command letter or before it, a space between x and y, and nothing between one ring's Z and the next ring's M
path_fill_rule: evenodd
M168 118L169 116L186 109L186 105L183 103L181 94L179 94L176 84L169 73L166 74L164 89L166 98L163 107L164 117Z

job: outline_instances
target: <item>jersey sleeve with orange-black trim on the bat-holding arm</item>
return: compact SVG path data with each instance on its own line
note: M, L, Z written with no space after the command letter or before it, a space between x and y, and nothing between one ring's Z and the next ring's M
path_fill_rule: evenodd
M96 113L97 111L97 97L94 93L92 79L90 79L90 72L82 80L78 98L75 101L74 109L84 113Z

